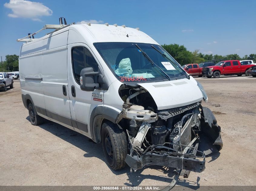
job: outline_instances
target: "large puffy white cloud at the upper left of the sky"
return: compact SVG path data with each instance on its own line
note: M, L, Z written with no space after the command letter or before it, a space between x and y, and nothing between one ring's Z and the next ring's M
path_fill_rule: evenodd
M33 21L41 21L39 17L52 15L52 10L39 2L26 0L10 0L4 6L12 10L8 17L30 18Z

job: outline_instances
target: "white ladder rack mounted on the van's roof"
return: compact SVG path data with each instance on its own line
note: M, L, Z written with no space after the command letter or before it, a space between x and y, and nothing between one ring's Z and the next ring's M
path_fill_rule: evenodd
M63 21L62 19L64 19L64 24L63 24ZM45 30L45 29L55 29L54 31L52 31L51 33L55 32L56 30L59 30L61 28L64 28L64 27L67 27L69 25L67 25L67 21L65 18L63 17L60 17L59 18L59 21L60 21L60 24L46 24L42 29L36 31L35 33L28 33L28 36L24 37L24 38L21 38L21 39L17 39L17 42L31 42L31 41L34 41L36 40L34 38L34 35L41 32L42 30ZM31 38L32 36L32 38Z

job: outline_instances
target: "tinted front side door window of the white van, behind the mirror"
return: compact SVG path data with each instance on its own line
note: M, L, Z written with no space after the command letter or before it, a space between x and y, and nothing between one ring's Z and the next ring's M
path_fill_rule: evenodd
M75 47L71 55L73 74L78 84L80 84L80 72L83 68L92 67L94 72L98 72L98 64L87 48Z

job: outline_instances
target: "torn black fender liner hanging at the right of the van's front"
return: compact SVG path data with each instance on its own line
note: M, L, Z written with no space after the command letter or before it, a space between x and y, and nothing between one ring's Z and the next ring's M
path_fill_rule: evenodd
M221 140L221 127L218 126L217 120L212 111L207 107L201 107L201 132L198 150L204 151L205 155L215 151L220 151L223 146Z

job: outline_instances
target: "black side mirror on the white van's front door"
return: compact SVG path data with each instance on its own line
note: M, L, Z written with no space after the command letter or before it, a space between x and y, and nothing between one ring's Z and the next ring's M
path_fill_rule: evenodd
M94 91L99 88L98 75L99 72L94 72L93 68L83 68L80 73L80 88L83 91Z

